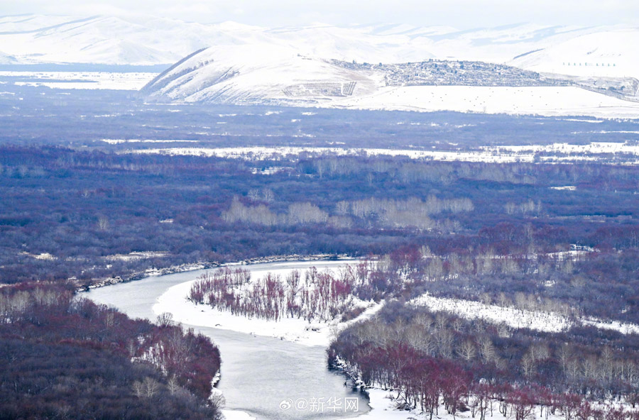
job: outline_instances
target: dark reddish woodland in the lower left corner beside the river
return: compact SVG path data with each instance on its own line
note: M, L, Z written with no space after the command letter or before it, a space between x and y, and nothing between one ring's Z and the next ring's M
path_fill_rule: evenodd
M70 284L0 289L1 419L220 419L219 365L170 316L132 320Z

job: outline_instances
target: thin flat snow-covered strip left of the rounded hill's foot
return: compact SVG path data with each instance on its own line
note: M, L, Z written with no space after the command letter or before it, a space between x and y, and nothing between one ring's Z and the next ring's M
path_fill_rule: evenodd
M53 89L139 90L157 76L150 72L9 72L1 77L17 77L16 85L46 86Z

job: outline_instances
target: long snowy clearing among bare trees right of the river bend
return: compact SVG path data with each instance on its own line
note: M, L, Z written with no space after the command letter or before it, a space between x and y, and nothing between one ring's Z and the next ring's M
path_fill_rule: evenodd
M423 294L410 301L415 306L427 306L433 311L447 311L466 319L484 319L492 324L506 324L512 328L530 328L537 331L557 333L575 325L574 321L560 314L513 309L497 305L486 305L464 299L449 299ZM615 330L620 333L639 333L639 325L600 319L581 319L578 322L597 328Z

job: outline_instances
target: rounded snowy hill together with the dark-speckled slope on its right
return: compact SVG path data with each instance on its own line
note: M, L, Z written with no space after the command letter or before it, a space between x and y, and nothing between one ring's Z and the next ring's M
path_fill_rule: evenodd
M302 55L275 45L216 46L195 52L143 90L151 100L224 104L343 104L386 87L547 86L538 73L484 62L428 60L368 65Z

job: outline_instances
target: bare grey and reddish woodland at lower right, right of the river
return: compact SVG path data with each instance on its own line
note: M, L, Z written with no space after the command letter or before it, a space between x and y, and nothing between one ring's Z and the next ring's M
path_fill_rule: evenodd
M394 389L400 407L430 414L493 408L527 419L559 410L566 419L636 419L639 337L596 328L540 333L400 302L339 333L329 365L364 387ZM622 402L609 407L598 402ZM599 408L597 408L599 407Z

